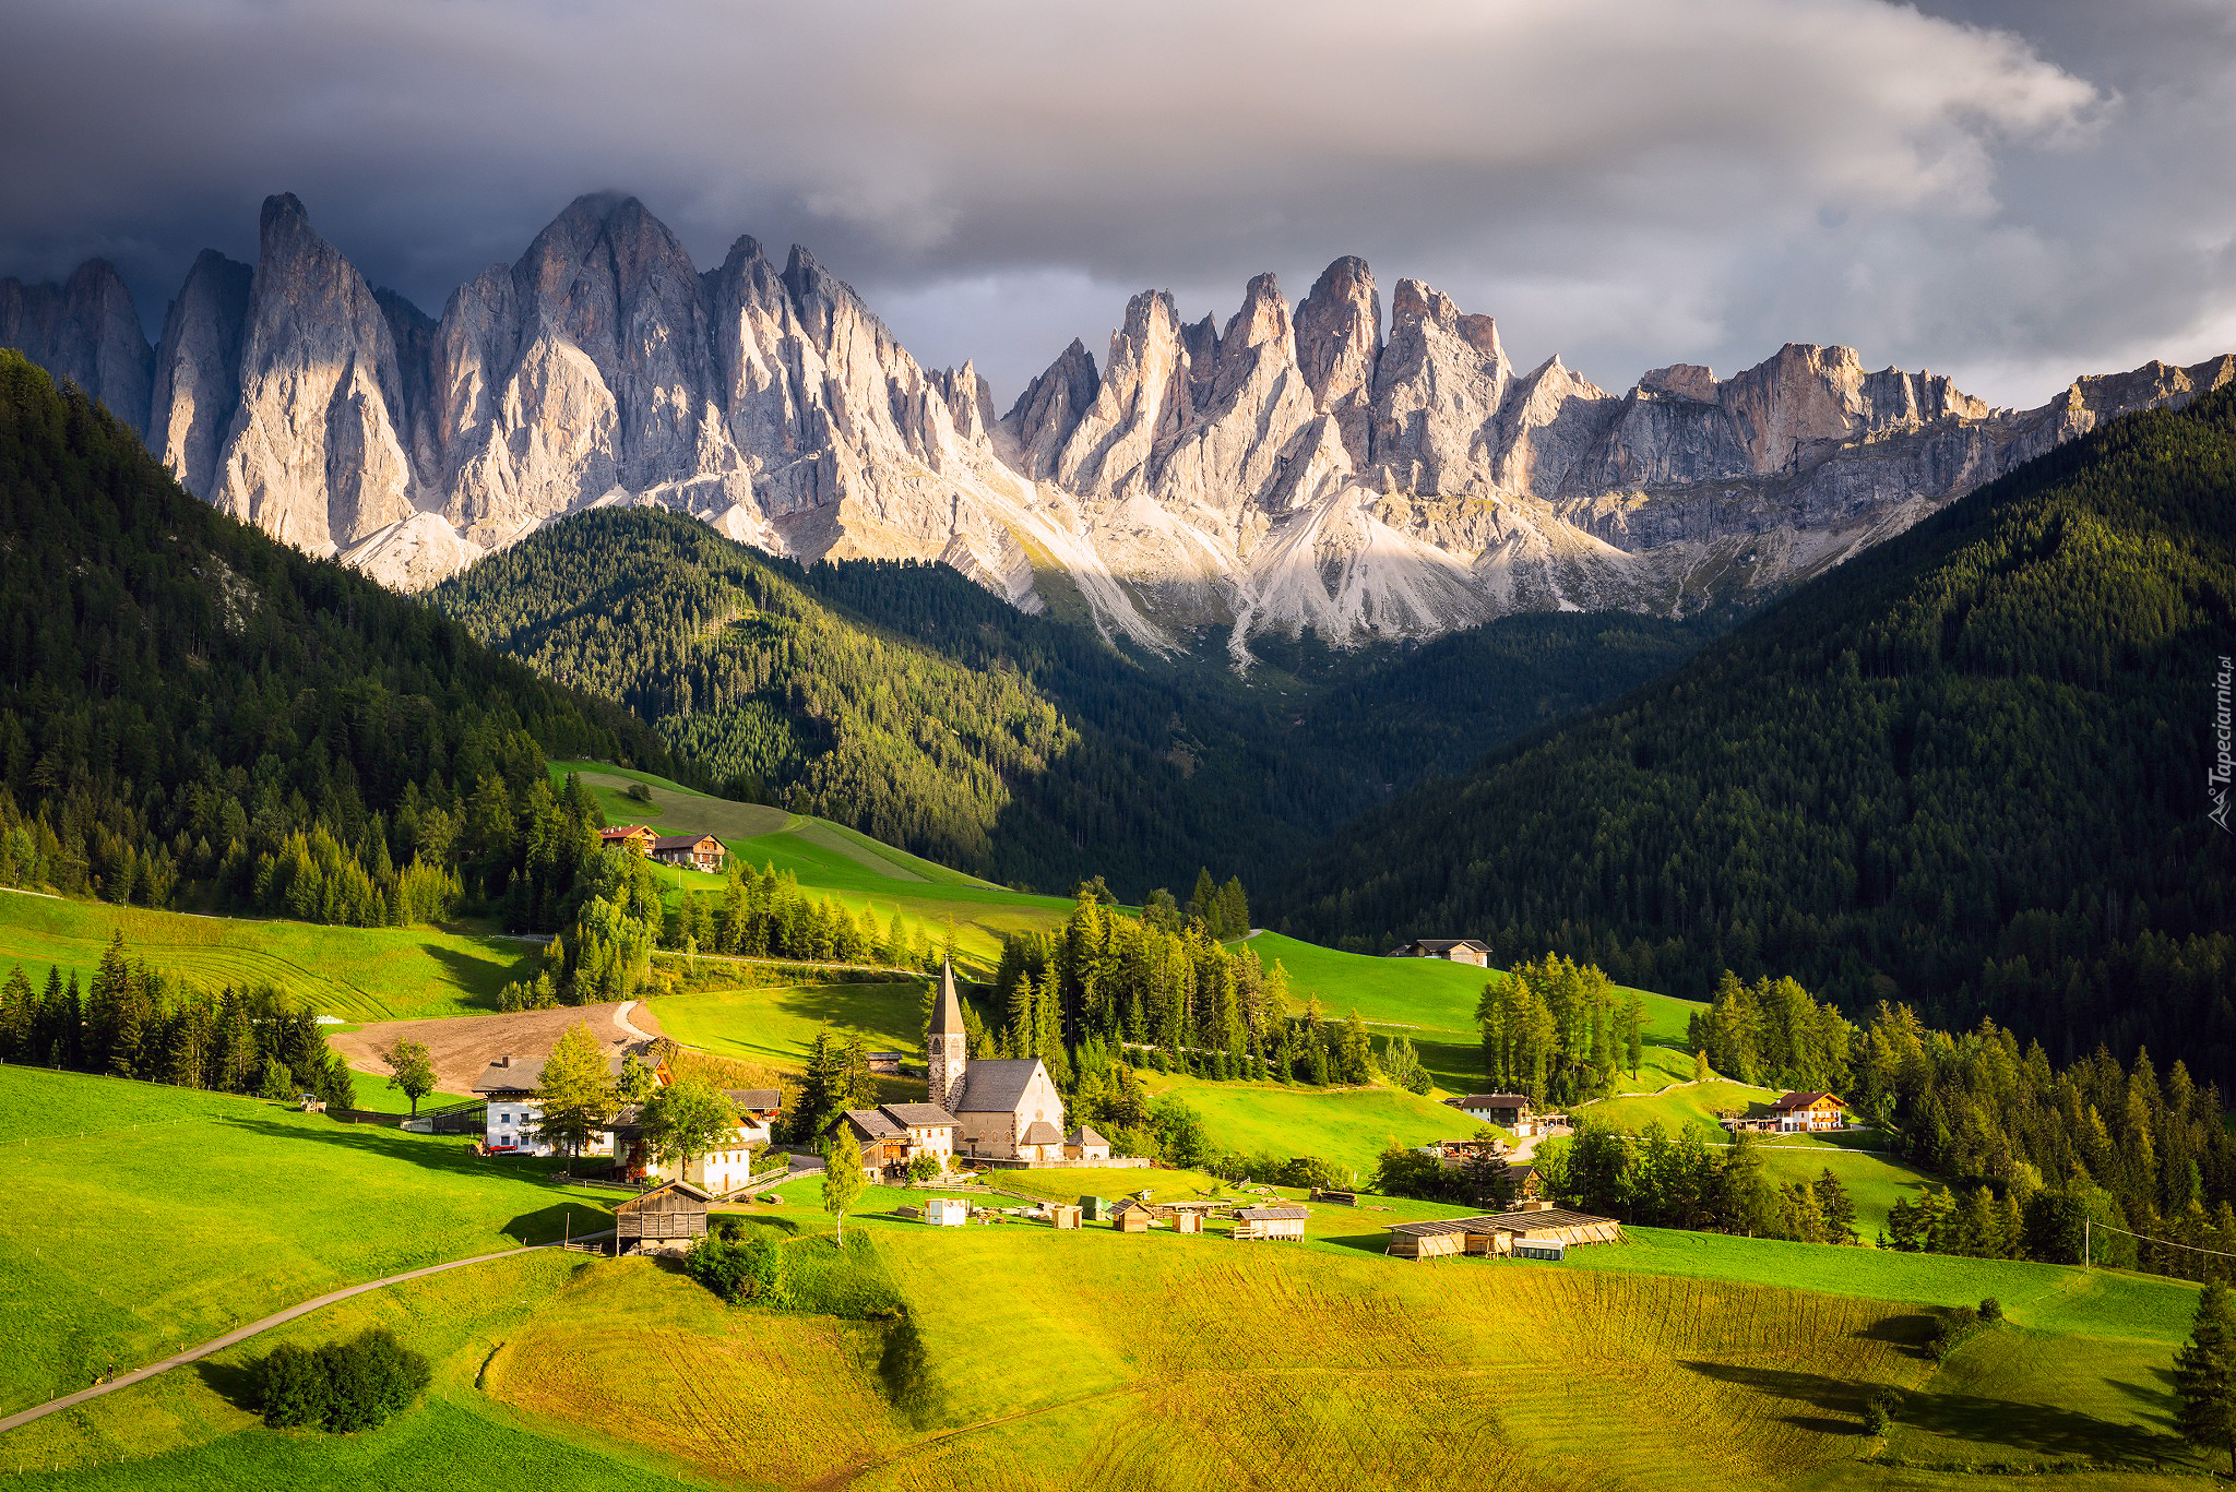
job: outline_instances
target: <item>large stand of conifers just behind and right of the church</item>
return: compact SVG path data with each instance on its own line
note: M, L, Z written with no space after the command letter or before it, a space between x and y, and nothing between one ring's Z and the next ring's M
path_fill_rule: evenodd
M1169 897L1152 895L1131 917L1096 890L1080 888L1053 937L1004 942L993 989L999 1024L982 1033L986 1056L1038 1056L1058 1085L1091 1040L1114 1058L1131 1054L1205 1078L1373 1080L1375 1049L1357 1011L1342 1022L1317 1000L1295 1011L1279 962L1266 969L1248 944L1221 944ZM1239 901L1241 888L1232 895Z

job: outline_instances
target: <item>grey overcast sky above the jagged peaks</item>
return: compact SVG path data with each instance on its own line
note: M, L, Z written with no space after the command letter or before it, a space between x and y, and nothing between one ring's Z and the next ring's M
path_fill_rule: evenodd
M266 192L440 313L566 201L807 244L999 403L1127 295L1364 255L1623 389L1782 342L1997 403L2236 349L2229 0L9 0L0 275L154 324Z

